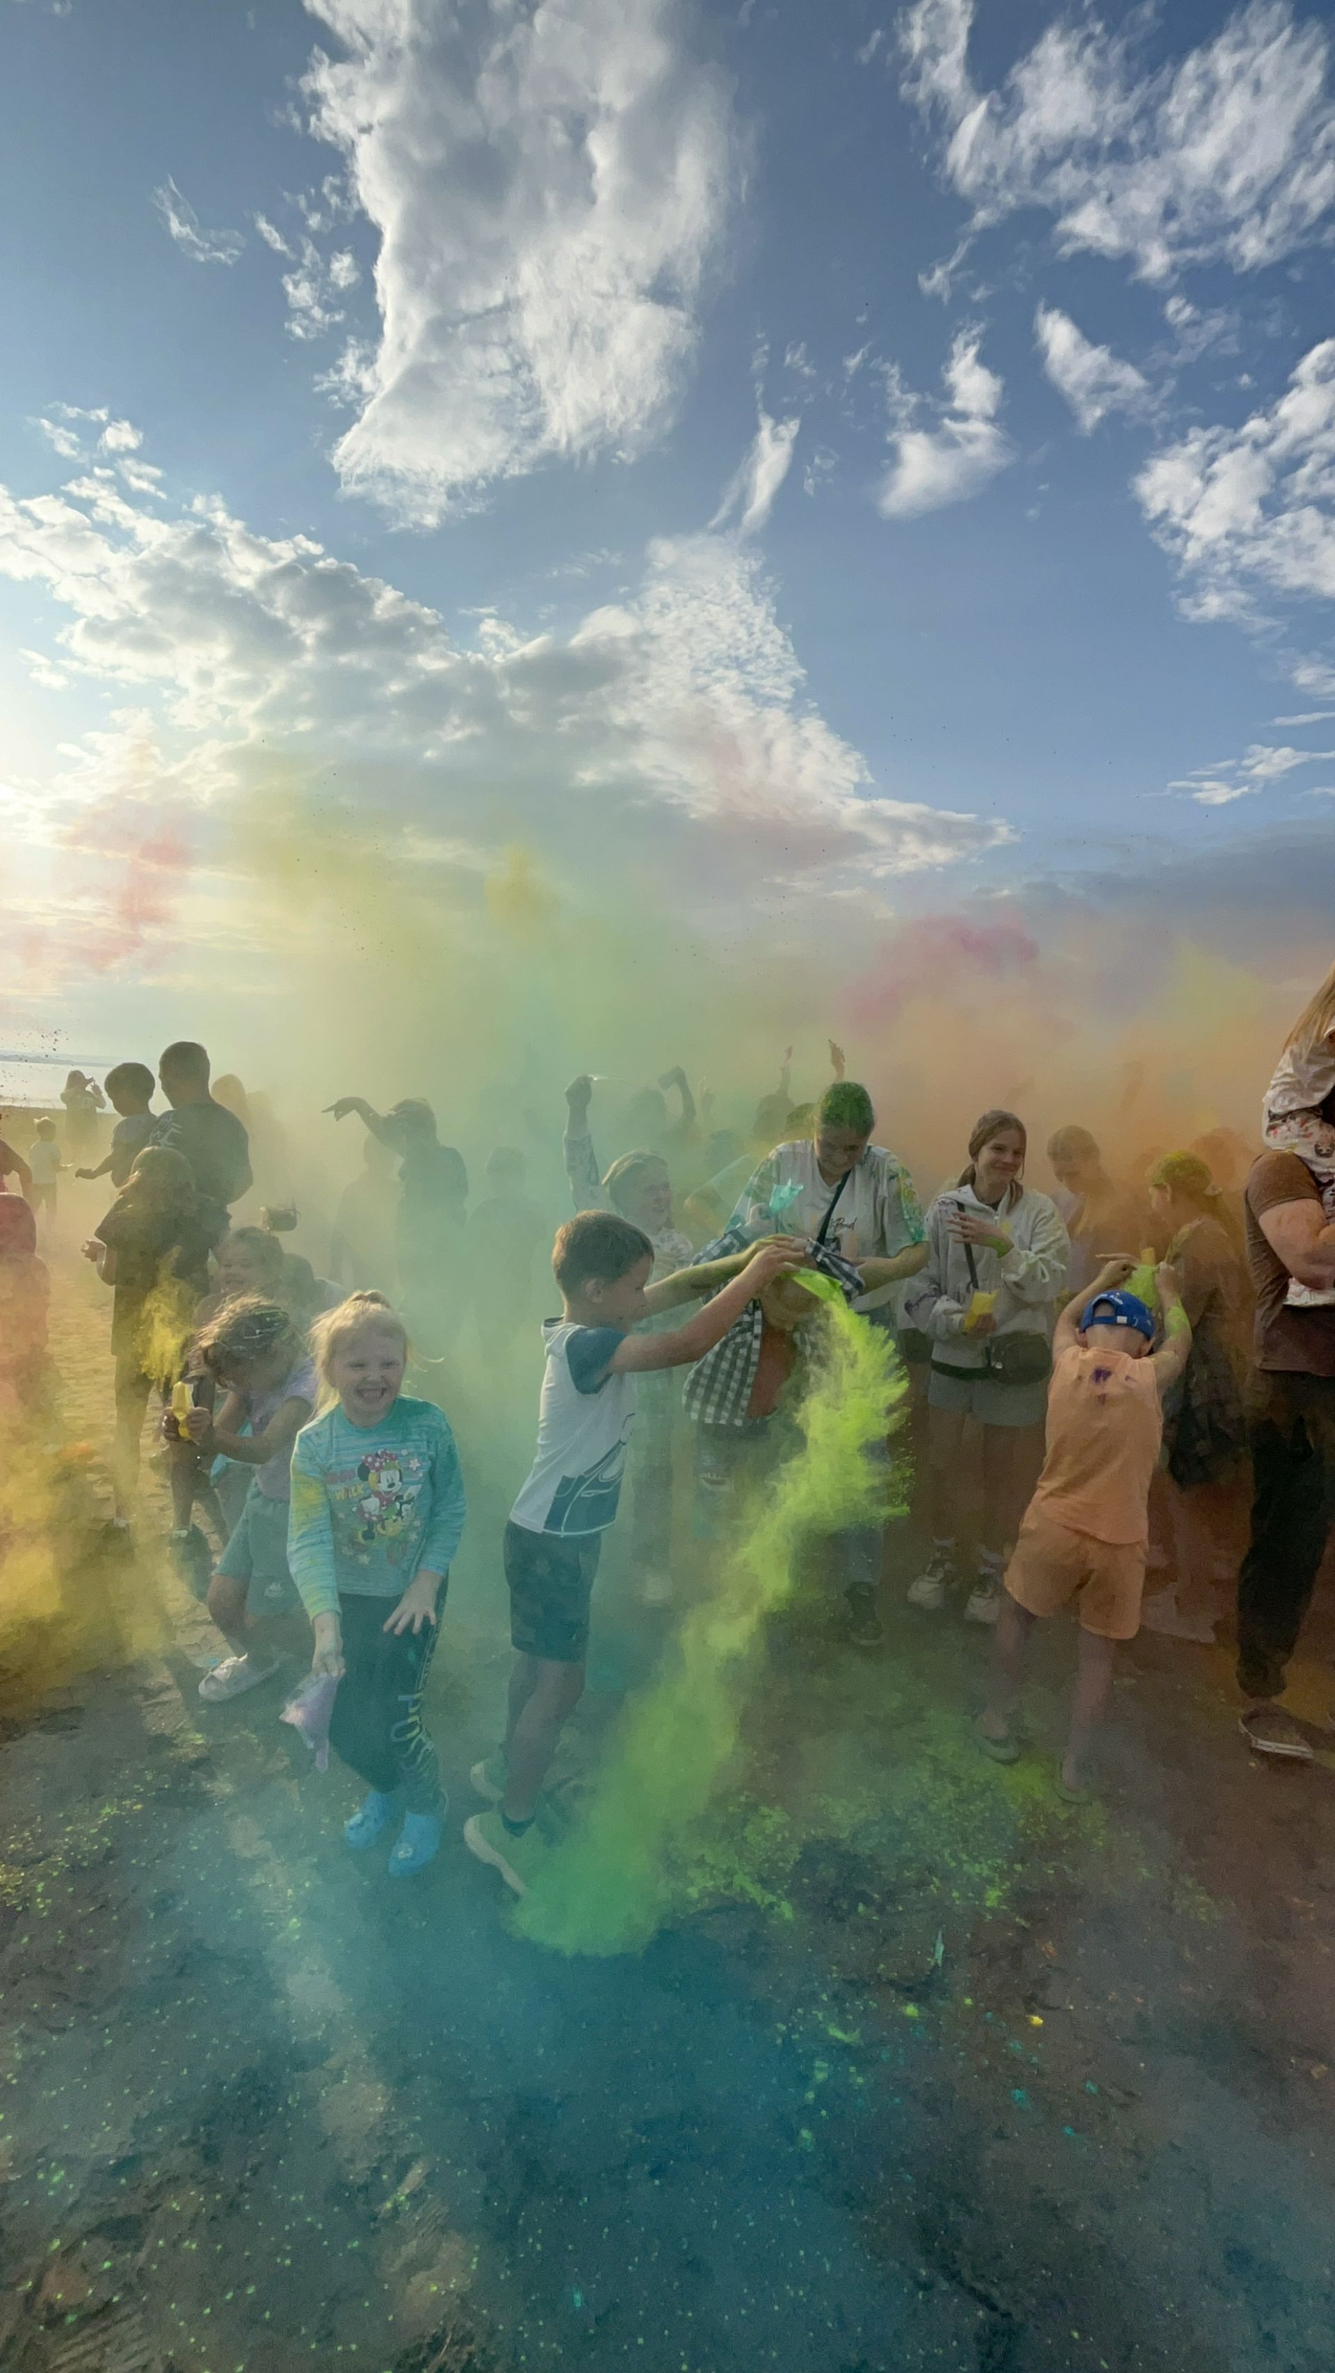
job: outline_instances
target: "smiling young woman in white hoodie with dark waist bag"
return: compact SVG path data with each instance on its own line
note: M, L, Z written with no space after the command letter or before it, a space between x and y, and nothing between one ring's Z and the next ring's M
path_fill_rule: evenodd
M937 1611L965 1580L960 1469L965 1424L982 1429L982 1540L965 1616L996 1623L1001 1576L1043 1464L1050 1341L1069 1239L1050 1196L1024 1186L1027 1132L984 1113L967 1170L927 1213L927 1267L908 1289L908 1324L932 1341L927 1457L932 1559L908 1590ZM1114 1246L1117 1251L1117 1246Z

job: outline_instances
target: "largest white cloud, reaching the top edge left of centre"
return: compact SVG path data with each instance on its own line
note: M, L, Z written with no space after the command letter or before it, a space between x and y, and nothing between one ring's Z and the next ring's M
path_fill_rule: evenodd
M434 524L550 456L633 453L669 418L723 228L733 133L676 0L308 0L311 128L379 233L379 346L344 484Z

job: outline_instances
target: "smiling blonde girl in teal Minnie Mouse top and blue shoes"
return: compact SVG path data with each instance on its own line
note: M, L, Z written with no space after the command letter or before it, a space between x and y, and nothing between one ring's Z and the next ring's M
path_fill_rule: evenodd
M292 1452L287 1564L311 1668L339 1682L330 1744L370 1789L344 1837L372 1846L401 1813L389 1875L408 1879L446 1811L422 1690L465 1521L460 1459L436 1405L403 1391L408 1334L382 1293L351 1293L311 1341L322 1407Z

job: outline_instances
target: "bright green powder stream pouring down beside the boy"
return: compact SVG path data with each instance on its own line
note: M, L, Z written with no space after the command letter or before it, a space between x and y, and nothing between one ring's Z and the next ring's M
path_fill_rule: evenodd
M517 1908L524 1936L562 1953L628 1953L650 1941L671 1858L737 1742L747 1652L790 1597L799 1550L889 1514L889 1469L868 1450L899 1424L903 1393L892 1336L830 1303L797 1410L801 1450L756 1495L671 1663L626 1706L583 1820Z

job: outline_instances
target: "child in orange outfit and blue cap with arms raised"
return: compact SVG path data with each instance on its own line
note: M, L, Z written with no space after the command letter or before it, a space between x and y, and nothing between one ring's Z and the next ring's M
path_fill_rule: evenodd
M1010 1718L1039 1616L1079 1611L1079 1663L1058 1794L1088 1796L1086 1763L1112 1687L1117 1640L1141 1630L1150 1476L1164 1433L1164 1393L1190 1353L1176 1277L1157 1272L1164 1341L1155 1317L1122 1291L1131 1260L1110 1260L1084 1310L1069 1303L1053 1336L1048 1455L1005 1569L986 1706L977 1737L996 1763L1015 1763Z

